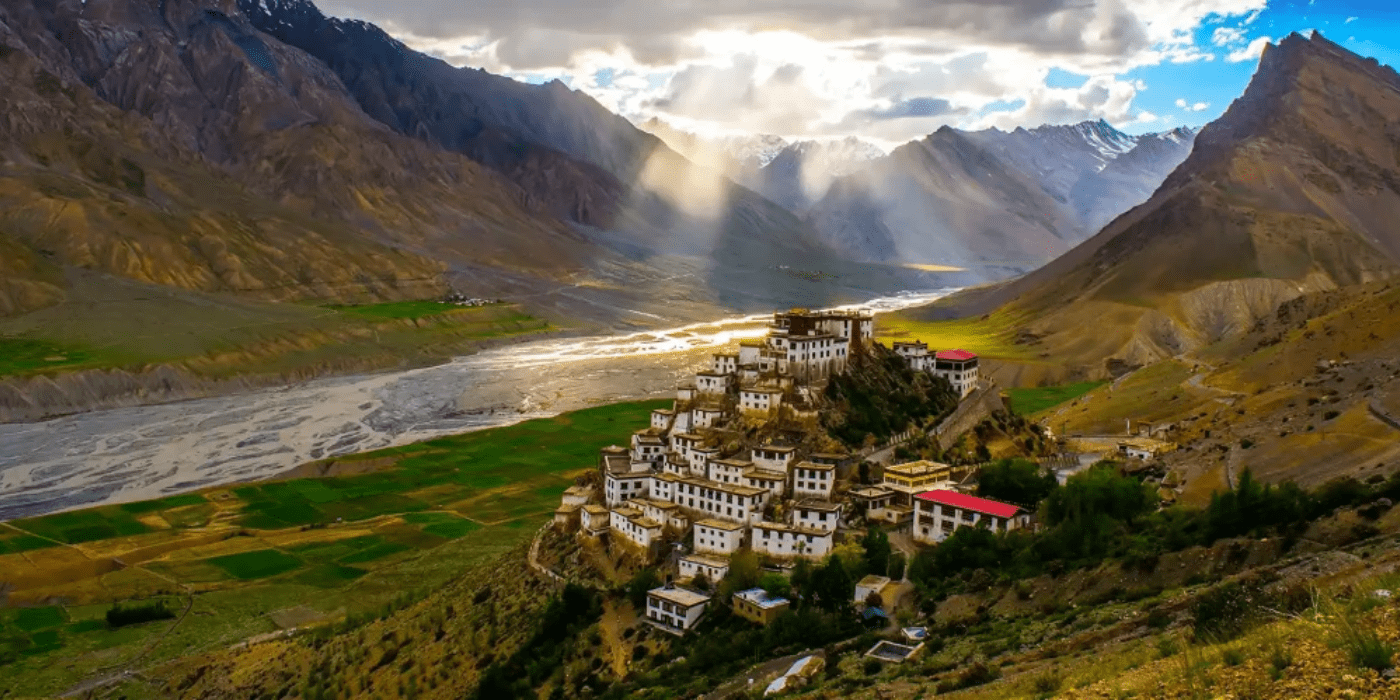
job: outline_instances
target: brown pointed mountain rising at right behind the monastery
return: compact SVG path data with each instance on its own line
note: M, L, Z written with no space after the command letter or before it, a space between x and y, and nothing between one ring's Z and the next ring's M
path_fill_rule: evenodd
M1394 70L1291 35L1148 202L1046 267L925 315L1009 305L1044 353L1103 371L1235 337L1308 291L1393 276L1397 115Z

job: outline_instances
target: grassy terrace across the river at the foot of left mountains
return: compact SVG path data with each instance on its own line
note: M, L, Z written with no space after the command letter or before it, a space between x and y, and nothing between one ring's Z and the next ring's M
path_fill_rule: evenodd
M99 277L77 280L69 297L0 319L0 378L157 364L210 378L370 370L553 329L511 304L272 304Z

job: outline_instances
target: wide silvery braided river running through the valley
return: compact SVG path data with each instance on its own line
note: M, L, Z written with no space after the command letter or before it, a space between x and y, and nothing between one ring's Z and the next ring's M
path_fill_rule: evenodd
M840 308L896 311L951 291ZM762 336L770 319L538 340L421 370L3 424L0 521L251 482L325 456L671 396L711 353Z

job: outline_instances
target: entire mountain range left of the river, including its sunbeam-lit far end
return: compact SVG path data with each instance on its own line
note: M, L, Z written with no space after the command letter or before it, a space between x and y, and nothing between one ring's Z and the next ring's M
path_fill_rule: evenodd
M582 94L305 1L4 0L0 74L0 314L63 301L74 267L274 301L452 284L608 323L928 286Z

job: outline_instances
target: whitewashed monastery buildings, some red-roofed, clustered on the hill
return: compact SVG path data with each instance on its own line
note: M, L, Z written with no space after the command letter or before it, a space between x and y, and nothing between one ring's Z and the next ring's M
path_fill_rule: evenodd
M822 386L869 351L872 332L868 314L774 314L766 337L715 354L708 370L679 386L671 409L652 412L651 426L634 433L627 447L602 449L601 479L592 482L598 486L570 487L556 511L556 528L623 547L647 563L664 559L671 575L650 591L644 617L657 629L685 634L713 603L701 589L708 587L690 584L721 581L729 557L743 547L781 568L827 556L847 533L869 524L909 532L924 545L942 542L958 528L1028 526L1030 514L1022 508L966 493L967 469L899 463L886 466L878 484L861 486L854 477L857 455L781 440L725 449L734 444L729 426L736 420L815 423ZM910 368L948 379L963 399L981 381L973 353L934 351L924 343L895 343L893 350ZM864 601L888 584L871 575L851 595ZM760 623L790 605L763 589L738 592L725 603ZM907 637L918 634L910 630Z

